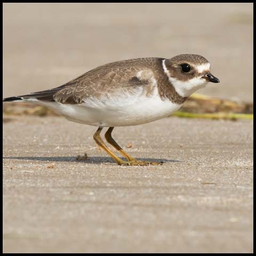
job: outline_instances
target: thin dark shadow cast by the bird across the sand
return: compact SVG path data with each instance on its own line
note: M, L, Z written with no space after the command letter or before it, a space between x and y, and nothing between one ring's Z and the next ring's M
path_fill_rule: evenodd
M20 159L20 160L30 160L30 161L45 161L45 162L77 162L77 163L88 163L88 164L102 164L102 163L115 163L114 159L111 157L101 157L101 156L90 156L85 160L77 160L74 156L4 156L3 159ZM125 161L126 159L123 158ZM174 159L165 158L136 158L139 161L148 162L182 162Z

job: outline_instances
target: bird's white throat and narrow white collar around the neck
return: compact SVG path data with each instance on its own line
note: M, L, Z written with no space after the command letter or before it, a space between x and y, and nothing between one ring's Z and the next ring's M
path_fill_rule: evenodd
M205 68L205 67L204 67ZM189 97L192 93L197 91L198 89L203 88L208 82L202 78L201 76L191 78L190 80L184 82L180 81L177 78L174 78L170 75L169 70L165 66L165 60L163 60L163 69L164 73L167 75L169 81L173 85L175 91L181 97ZM202 68L201 68L202 69Z

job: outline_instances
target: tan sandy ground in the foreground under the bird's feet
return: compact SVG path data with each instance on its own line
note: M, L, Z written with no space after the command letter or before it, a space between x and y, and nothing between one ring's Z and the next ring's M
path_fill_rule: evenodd
M114 130L127 152L162 166L117 166L94 131L61 117L4 119L5 253L253 252L252 121Z

